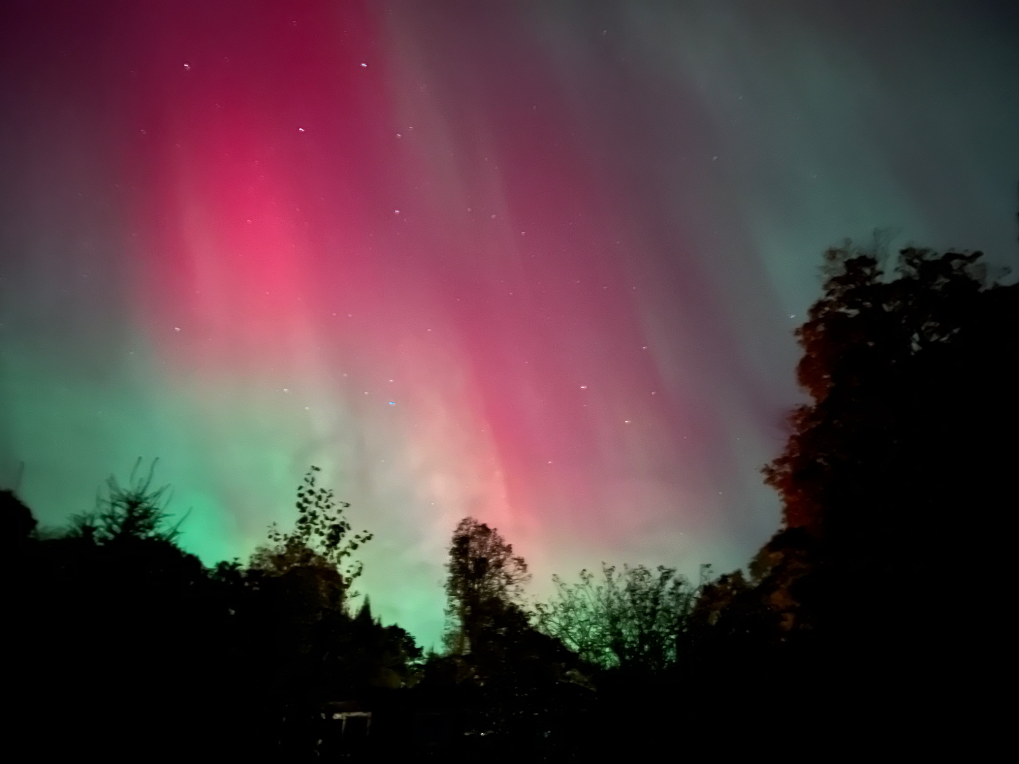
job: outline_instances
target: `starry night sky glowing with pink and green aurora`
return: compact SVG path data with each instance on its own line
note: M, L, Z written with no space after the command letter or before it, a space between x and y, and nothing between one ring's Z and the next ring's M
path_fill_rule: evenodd
M743 564L826 247L1019 265L1019 4L11 2L0 485L158 456L246 557L323 468L435 642L457 522Z

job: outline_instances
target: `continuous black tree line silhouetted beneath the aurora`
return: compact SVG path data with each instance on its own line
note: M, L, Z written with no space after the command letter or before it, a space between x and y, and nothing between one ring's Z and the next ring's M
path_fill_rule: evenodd
M372 534L318 468L292 529L214 567L177 544L155 465L59 533L3 491L15 728L41 757L557 761L675 746L680 727L732 746L733 728L859 738L958 710L1004 649L1019 286L980 253L887 267L847 243L824 264L797 330L809 402L763 470L782 527L745 569L603 565L528 604L526 561L467 517L425 654L352 605Z

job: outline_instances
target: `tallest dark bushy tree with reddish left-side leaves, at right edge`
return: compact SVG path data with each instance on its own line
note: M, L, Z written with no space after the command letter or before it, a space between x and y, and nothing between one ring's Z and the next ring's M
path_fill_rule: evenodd
M849 247L826 263L797 331L812 402L767 483L786 527L828 553L875 574L932 571L973 528L957 523L964 507L994 513L1011 495L1019 287L988 284L980 253L903 250L894 278Z

